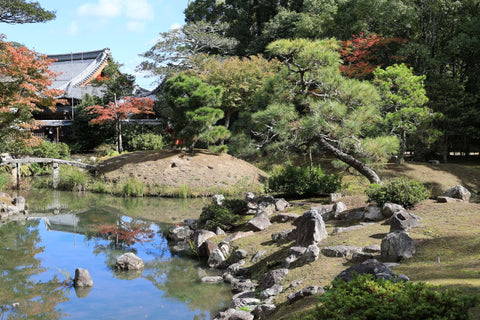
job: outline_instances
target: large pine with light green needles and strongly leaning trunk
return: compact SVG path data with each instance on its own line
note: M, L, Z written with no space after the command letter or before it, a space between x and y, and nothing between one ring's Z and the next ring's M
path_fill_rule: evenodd
M292 96L300 117L296 131L304 143L315 143L356 169L369 181L380 181L364 159L373 153L363 141L369 127L378 121L376 88L340 74L339 44L333 39L278 40L267 50L284 62ZM385 139L385 137L382 137Z

